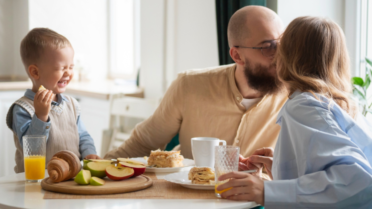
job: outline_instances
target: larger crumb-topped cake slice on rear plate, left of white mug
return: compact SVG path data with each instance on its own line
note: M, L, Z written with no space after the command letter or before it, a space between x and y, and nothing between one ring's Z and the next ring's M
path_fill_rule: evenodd
M151 151L147 164L157 168L183 167L183 156L180 153L181 151Z

